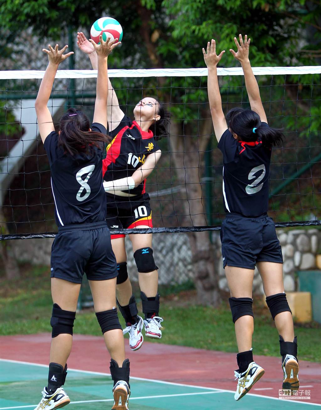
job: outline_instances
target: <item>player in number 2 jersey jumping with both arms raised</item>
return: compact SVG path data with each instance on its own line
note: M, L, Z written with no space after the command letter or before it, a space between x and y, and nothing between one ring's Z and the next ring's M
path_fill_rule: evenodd
M226 218L221 229L222 255L231 297L229 299L239 353L235 400L241 399L264 374L252 353L254 330L252 285L255 264L263 281L266 303L280 335L284 380L282 388L298 389L297 340L291 310L283 287L282 252L273 220L268 217L271 148L282 142L280 130L270 128L259 87L248 57L250 39L239 42L241 63L251 109L234 108L225 119L217 78L217 64L224 51L216 55L215 41L203 48L208 67L207 90L214 132L223 153L223 196Z

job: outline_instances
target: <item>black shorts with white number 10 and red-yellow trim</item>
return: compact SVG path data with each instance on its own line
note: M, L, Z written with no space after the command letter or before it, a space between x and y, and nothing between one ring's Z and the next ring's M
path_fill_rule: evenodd
M138 226L153 228L149 199L148 194L122 197L107 193L106 222L109 229L131 229ZM116 239L125 237L125 235L111 234L111 237Z

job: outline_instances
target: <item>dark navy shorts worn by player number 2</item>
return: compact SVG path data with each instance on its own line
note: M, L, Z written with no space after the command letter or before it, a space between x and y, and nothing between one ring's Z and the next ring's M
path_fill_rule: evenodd
M223 267L254 269L256 262L283 263L275 225L267 214L246 218L227 214L221 228Z

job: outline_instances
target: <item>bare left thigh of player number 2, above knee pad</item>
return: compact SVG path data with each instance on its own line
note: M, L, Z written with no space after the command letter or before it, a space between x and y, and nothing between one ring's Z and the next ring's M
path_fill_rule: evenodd
M254 269L225 266L225 275L232 298L252 298Z

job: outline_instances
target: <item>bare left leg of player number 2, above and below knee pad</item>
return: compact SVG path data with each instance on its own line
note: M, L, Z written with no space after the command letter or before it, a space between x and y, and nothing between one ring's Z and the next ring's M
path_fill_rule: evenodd
M252 298L254 270L225 266L225 275L228 280L231 298ZM234 323L237 347L239 352L250 350L254 320L252 316L241 316Z

